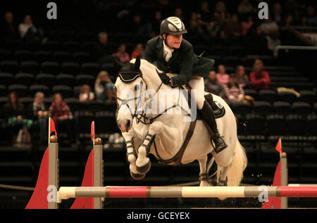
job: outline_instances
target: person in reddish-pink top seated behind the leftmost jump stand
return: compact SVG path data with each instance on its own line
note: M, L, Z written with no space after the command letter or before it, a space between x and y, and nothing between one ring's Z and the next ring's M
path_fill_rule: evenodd
M56 130L66 132L70 144L75 141L73 114L68 105L63 101L61 94L54 94L49 111L54 119Z

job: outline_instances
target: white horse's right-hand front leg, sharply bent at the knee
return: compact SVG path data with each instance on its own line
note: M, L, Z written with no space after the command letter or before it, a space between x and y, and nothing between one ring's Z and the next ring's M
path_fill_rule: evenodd
M140 144L138 148L138 156L137 156L137 172L146 174L149 172L149 169L151 168L151 162L147 155L150 152L151 146L154 143L154 139L157 135L161 134L166 135L166 145L173 146L175 144L175 139L178 139L178 131L175 131L175 129L170 128L166 125L164 125L160 121L155 121L149 126L149 132L147 132L147 135L144 138L144 141L142 144Z

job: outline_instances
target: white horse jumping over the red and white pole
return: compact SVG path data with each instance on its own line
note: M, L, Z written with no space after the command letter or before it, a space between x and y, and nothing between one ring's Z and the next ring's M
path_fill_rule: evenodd
M168 160L178 153L185 141L190 125L190 122L183 121L183 118L188 116L185 113L180 114L181 108L179 106L170 108L169 113L166 110L161 112L161 115L156 118L153 118L155 115L137 114L137 103L134 103L135 107L133 108L132 102L136 102L138 99L145 103L144 94L137 93L138 87L138 92L141 93L147 89L153 89L151 96L147 96L151 100L154 98L161 99L160 91L171 89L170 86L162 84L157 69L155 65L147 60L137 58L131 60L128 65L120 65L119 77L116 79L117 122L125 139L128 162L130 162L130 174L134 179L142 179L149 171L151 163L147 158L148 153L163 160ZM123 94L127 89L133 92L132 96ZM182 91L179 90L177 96L182 101L186 101ZM200 186L210 186L208 173L213 160L215 160L217 164L217 184L221 186L239 186L244 169L247 166L247 156L237 139L235 115L222 98L213 95L213 100L218 101L225 108L225 115L216 119L216 122L220 135L224 136L228 148L219 153L213 151L209 131L203 121L197 120L192 138L182 155L181 163L187 164L198 160ZM163 100L158 101L159 105L164 103L166 102ZM142 111L144 112L144 110ZM207 166L207 155L209 153L213 154L213 158Z

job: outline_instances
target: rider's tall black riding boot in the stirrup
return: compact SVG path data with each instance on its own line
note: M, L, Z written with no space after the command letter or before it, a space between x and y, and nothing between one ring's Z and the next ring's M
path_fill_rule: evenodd
M209 125L210 129L213 131L213 141L215 143L215 151L219 153L228 147L223 140L223 137L220 136L217 128L217 123L215 120L215 116L213 115L213 108L209 105L207 101L204 101L204 106L201 108L201 115L203 116L204 121ZM211 141L212 144L212 141Z

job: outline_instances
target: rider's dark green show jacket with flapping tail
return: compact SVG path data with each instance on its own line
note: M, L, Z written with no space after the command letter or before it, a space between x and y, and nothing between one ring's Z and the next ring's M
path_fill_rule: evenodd
M182 39L180 49L174 49L173 55L166 62L163 58L163 39L155 37L147 42L144 59L153 63L163 72L178 74L172 77L173 87L187 84L192 75L206 77L215 60L194 54L192 44Z

